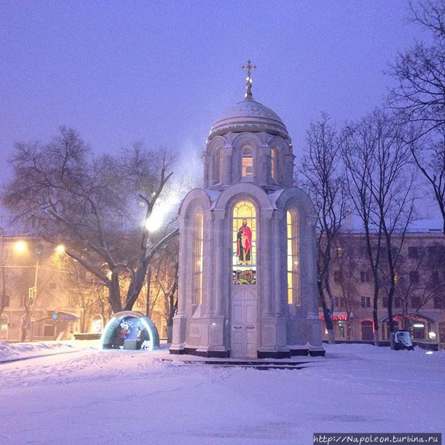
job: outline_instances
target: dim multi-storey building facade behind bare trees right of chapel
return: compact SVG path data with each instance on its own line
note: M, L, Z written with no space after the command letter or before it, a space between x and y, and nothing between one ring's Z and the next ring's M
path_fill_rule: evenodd
M408 329L414 341L437 341L445 348L445 236L441 231L393 235L397 257L393 315L396 329ZM379 338L389 340L385 252L380 267ZM330 283L334 293L337 340L373 341L373 273L364 234L341 234L332 252ZM321 319L323 312L319 305ZM323 339L327 331L323 323Z

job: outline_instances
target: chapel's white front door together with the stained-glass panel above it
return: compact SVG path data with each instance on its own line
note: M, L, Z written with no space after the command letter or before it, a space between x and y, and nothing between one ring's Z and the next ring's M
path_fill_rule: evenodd
M231 357L257 357L257 218L243 200L234 206L231 292Z

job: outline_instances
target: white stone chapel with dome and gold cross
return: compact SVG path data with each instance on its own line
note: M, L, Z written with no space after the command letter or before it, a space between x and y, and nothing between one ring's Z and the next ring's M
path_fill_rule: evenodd
M170 353L324 355L317 309L316 216L293 187L291 138L252 97L216 120L204 185L179 209L179 286Z

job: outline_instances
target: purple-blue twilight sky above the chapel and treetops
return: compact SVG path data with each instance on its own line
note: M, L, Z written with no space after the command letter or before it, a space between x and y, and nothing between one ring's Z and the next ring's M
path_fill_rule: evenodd
M15 141L60 124L97 151L200 152L248 58L299 154L321 111L341 123L382 102L388 63L423 37L407 14L405 0L0 0L0 175Z

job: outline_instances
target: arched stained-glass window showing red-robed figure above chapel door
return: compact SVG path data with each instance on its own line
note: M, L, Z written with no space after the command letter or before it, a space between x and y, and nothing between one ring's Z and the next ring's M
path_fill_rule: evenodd
M257 213L250 201L240 201L233 217L233 282L255 284L257 271Z

